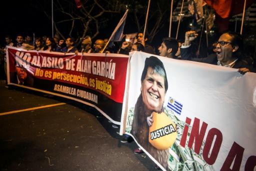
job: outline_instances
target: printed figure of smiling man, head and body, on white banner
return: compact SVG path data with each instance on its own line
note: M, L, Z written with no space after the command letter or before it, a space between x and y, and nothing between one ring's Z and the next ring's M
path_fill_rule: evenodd
M165 169L168 169L168 149L157 149L148 142L152 112L163 111L168 82L163 63L155 56L145 59L141 75L140 95L137 98L130 133ZM152 120L153 121L153 120Z

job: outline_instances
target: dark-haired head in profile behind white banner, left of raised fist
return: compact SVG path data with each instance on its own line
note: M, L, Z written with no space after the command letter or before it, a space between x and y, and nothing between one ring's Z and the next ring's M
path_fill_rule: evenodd
M178 42L175 38L163 38L160 47L158 48L160 56L173 57L178 49Z

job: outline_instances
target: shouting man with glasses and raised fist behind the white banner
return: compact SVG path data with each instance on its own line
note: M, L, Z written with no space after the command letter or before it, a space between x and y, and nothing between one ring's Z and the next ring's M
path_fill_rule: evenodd
M194 60L194 58L191 57L191 41L194 40L197 35L198 34L195 31L187 31L185 33L185 42L182 43L180 48L182 59ZM205 57L202 58L201 62L216 64L225 67L238 68L238 72L240 72L241 74L250 71L249 68L251 68L251 66L246 60L242 58L243 42L240 34L226 31L220 35L218 41L214 44L214 51L216 51L216 57ZM214 61L214 58L217 60ZM208 62L209 60L211 60L212 62Z

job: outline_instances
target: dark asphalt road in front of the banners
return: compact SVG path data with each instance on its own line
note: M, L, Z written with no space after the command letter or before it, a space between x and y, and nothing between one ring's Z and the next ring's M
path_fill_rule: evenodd
M0 81L0 170L156 170L117 130L89 106Z

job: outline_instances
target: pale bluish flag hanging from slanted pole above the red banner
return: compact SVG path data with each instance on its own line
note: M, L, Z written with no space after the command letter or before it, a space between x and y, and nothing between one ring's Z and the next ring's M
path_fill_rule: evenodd
M122 39L122 32L125 24L125 19L128 13L128 9L126 9L125 13L123 14L122 18L119 20L118 24L114 28L111 36L110 41L121 41Z

